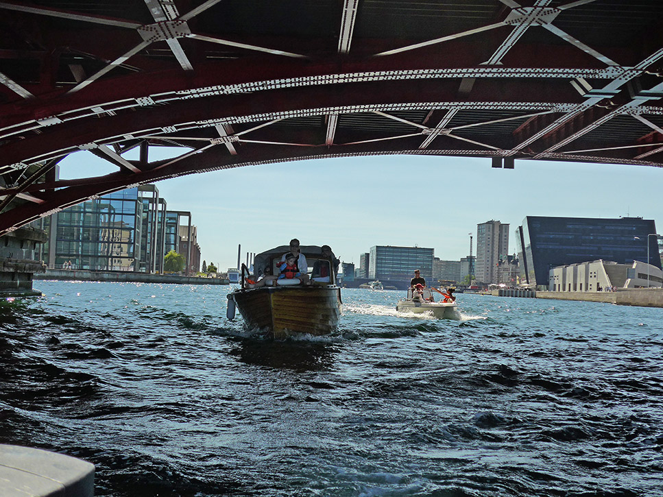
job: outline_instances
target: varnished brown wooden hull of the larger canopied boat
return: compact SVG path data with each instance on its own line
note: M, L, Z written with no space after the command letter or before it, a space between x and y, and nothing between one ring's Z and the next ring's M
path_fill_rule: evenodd
M341 290L325 287L261 287L230 294L251 329L282 339L295 333L327 335L341 317Z

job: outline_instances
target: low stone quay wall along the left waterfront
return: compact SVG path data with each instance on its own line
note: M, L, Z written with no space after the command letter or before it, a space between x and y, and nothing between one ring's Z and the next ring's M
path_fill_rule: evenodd
M130 271L86 271L84 269L47 269L34 274L34 280L102 281L175 284L230 284L228 278L198 278L177 274L147 274Z

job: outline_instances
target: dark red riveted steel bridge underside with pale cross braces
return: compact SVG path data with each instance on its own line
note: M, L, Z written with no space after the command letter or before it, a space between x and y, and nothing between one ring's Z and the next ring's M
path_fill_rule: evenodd
M660 0L0 1L0 30L0 234L288 160L663 165ZM58 179L80 151L117 171Z

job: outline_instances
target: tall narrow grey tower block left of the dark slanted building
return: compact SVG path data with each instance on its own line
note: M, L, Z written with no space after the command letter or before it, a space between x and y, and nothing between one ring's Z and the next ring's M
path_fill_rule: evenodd
M498 282L497 267L509 254L509 225L500 221L477 224L477 266L474 278L490 284Z

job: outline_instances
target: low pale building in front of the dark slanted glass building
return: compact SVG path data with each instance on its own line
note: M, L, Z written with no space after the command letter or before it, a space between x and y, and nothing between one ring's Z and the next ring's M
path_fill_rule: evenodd
M608 260L554 267L549 274L549 291L596 292L612 288L660 288L663 271L634 260L618 264Z

